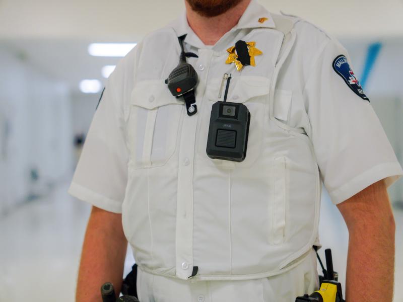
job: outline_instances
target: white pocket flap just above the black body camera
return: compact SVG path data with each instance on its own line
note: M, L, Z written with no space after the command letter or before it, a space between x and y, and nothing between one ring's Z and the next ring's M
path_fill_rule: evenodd
M224 100L225 87L227 81L224 81L224 85L221 91L221 98L218 98L220 93L222 79L212 79L207 86L207 95L210 101L222 101ZM231 78L230 86L228 89L228 102L244 103L247 100L267 95L270 92L270 79L257 76L239 76Z

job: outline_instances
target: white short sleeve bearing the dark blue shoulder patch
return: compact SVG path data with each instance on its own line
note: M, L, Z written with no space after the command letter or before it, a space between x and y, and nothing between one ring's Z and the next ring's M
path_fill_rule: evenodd
M334 204L381 179L389 186L402 170L348 52L308 22L297 23L296 29L295 48L278 81L278 90L292 93L289 118L283 122L310 137Z

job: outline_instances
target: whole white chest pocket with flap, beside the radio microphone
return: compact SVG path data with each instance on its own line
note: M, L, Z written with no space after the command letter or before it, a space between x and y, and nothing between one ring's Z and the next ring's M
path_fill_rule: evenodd
M136 84L127 121L131 168L158 167L169 161L175 153L183 108L163 80Z

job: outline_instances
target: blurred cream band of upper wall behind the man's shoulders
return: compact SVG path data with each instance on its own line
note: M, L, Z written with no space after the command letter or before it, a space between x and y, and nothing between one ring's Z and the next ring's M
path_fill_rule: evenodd
M259 0L338 36L403 35L401 0ZM184 0L1 0L0 37L132 41L176 18ZM51 25L51 26L49 26Z

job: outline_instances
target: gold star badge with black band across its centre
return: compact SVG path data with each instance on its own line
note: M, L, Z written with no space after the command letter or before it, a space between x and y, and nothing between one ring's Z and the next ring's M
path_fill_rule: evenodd
M263 53L259 49L257 49L255 45L256 42L245 42L239 40L235 43L235 46L227 49L229 55L225 63L234 63L238 71L240 71L243 66L255 66L255 56Z

